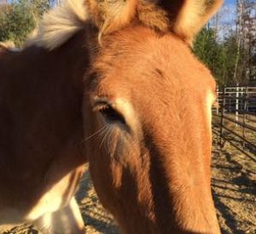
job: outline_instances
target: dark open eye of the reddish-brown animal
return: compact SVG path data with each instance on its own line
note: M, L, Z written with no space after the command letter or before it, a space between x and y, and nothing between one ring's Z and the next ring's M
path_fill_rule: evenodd
M105 120L109 123L117 122L126 124L123 115L119 113L119 111L113 109L113 107L110 105L102 106L102 108L99 109L99 112L102 114L102 117L104 117Z

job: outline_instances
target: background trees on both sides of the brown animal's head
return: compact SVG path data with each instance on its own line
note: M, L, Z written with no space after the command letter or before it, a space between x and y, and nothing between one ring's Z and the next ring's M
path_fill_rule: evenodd
M44 12L59 1L0 0L0 41L13 41L19 47ZM220 85L256 82L256 0L236 0L228 27L221 21L224 14L220 12L203 28L193 51Z

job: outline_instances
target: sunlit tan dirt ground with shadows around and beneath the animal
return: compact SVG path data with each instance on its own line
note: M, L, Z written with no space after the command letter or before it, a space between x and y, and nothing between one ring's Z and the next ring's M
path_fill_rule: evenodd
M213 142L212 192L222 233L256 234L256 156L245 156L228 143L220 149ZM99 203L88 171L77 199L86 233L119 233L113 218ZM39 234L32 225L0 226L1 234Z

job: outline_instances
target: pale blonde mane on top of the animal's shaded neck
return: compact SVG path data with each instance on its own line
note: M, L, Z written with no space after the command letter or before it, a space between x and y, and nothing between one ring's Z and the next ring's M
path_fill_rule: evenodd
M89 14L84 1L64 0L44 14L37 29L24 43L24 47L37 45L49 50L58 48L81 30L88 19Z

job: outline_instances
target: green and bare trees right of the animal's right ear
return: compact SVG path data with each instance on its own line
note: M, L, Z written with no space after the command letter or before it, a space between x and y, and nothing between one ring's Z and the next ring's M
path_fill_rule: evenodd
M219 84L256 83L256 0L236 0L233 19L224 25L223 9L195 40L195 54Z

